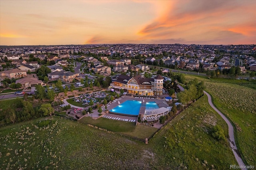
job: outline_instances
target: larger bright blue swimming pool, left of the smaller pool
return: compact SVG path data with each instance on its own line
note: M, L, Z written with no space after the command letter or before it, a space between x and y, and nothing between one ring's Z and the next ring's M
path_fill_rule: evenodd
M137 117L140 112L141 103L141 101L128 100L114 109L111 109L109 112L117 115Z

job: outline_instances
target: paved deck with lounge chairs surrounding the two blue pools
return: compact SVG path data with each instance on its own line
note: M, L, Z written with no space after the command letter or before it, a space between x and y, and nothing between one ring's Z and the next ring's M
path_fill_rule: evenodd
M146 99L146 98L150 98L150 99ZM143 100L144 100L144 103L146 103L148 101L154 101L154 102L156 102L156 104L158 105L159 108L161 108L161 107L168 107L168 105L163 103L163 101L165 101L164 99L156 99L156 98L152 99L152 98L153 97L150 97L150 96L149 97L141 97L141 98L140 97L139 98L135 98L135 97L130 97L130 96L124 96L124 97L120 97L118 100L120 101L120 104L124 103L125 101L128 101L128 100L141 101L142 103L143 103ZM119 104L118 104L118 101L116 101L115 103L112 102L112 103L110 103L108 105L109 105L108 106L108 110L111 110L114 107L117 107ZM144 116L145 109L146 109L146 107L143 107L143 106L140 107L139 115L141 115L141 118L143 118L143 116ZM104 110L105 109L103 109L103 111ZM136 120L137 121L137 117L128 117L128 116L114 115L114 114L111 114L111 113L107 113L105 115L106 116L110 116L110 117L114 117L114 118L129 119L129 120Z

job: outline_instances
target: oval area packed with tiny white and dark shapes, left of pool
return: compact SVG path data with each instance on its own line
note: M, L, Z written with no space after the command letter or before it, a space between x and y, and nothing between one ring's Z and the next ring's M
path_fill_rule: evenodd
M99 100L103 100L107 96L107 93L105 92L94 92L94 93L85 93L81 94L78 97L74 97L74 101L78 103L83 103L82 105L88 105L90 103L90 100L92 100L94 103L98 102Z

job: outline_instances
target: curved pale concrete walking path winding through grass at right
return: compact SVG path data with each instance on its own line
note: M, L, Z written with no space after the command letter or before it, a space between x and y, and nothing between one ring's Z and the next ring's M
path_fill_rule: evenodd
M228 124L228 140L229 140L229 144L232 148L232 152L234 153L234 156L236 158L236 161L238 163L239 166L244 166L245 164L239 154L239 151L236 147L236 142L235 142L235 137L234 137L234 128L232 126L232 124L230 123L230 121L213 105L212 103L212 97L209 95L209 93L207 93L206 91L204 91L204 93L207 95L208 97L208 103L209 105L212 107L212 109L214 109L221 117L222 119L224 119L224 121ZM242 168L242 170L247 170L246 168Z

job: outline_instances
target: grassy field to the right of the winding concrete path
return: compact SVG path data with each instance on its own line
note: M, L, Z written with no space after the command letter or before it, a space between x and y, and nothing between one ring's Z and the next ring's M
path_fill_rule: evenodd
M246 164L256 163L256 81L198 77L204 81L213 103L234 124L236 144Z

